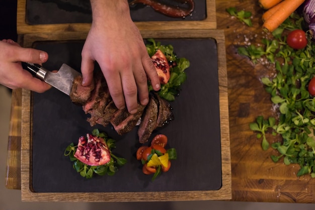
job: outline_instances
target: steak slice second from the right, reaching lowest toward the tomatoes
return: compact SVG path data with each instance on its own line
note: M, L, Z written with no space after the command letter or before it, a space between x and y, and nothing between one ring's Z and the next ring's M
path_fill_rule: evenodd
M151 96L141 117L141 123L138 129L139 142L142 144L148 141L151 133L156 128L157 111L157 100Z

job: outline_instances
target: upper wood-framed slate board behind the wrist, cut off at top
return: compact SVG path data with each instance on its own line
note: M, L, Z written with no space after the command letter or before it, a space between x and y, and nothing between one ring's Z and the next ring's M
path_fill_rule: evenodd
M204 1L206 2L204 7ZM34 9L27 9L27 0L18 0L18 11L17 11L17 32L18 34L28 34L28 33L62 33L62 32L82 32L87 33L91 27L91 15L89 11L89 6L87 6L87 1L76 0L73 3L69 3L68 1L32 1L34 7L36 6L36 10L41 10L43 13L46 12L45 16L43 13L40 13L42 16L35 14ZM71 4L71 6L64 6L65 4ZM191 17L187 17L186 20L174 19L163 17L159 14L155 14L155 11L150 10L150 8L145 9L137 9L134 6L131 6L131 15L135 20L136 26L140 30L186 30L186 29L215 29L216 28L216 16L215 16L215 0L201 0L195 1L196 11L198 13L202 13L201 16L204 18L199 18L199 15L194 14ZM62 8L64 6L65 8ZM59 7L59 8L58 8ZM61 7L61 8L60 8ZM40 8L40 9L39 9ZM66 9L71 9L71 13L67 13ZM56 9L56 11L52 11ZM135 10L138 11L135 11ZM27 14L28 13L30 14ZM32 12L34 14L32 14ZM68 23L52 23L47 24L53 20L54 15L60 15L65 19L71 19ZM73 17L71 16L73 15ZM81 18L75 19L76 15L81 15ZM146 16L151 17L143 20L140 17ZM193 17L196 16L197 20L194 20ZM84 18L85 17L85 18ZM157 17L157 18L156 18ZM42 23L45 24L35 24L32 20L37 19L45 19ZM86 21L88 20L88 21ZM138 21L137 21L138 20Z

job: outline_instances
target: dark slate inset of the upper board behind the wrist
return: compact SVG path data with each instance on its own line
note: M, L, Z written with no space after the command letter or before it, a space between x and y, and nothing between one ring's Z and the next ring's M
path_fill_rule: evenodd
M174 2L165 0L164 2ZM30 25L92 23L89 0L27 0L26 22ZM206 19L206 0L195 1L195 9L186 18L171 18L155 12L151 7L137 4L130 6L135 22L146 21L202 21Z

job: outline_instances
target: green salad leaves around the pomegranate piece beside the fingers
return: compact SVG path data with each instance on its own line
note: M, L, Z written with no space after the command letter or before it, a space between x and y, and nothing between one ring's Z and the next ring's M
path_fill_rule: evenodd
M166 56L170 64L170 80L166 84L161 84L161 89L157 93L167 99L168 101L174 101L175 96L180 92L181 84L186 81L185 69L190 65L186 58L177 57L174 52L172 45L161 45L161 42L155 42L154 39L147 39L148 44L146 44L146 50L150 57L155 54L155 52L160 49ZM148 83L149 91L152 91L151 83Z

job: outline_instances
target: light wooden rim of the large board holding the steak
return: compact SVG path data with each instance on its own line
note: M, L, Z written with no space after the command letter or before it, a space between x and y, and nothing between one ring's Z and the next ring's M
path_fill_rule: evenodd
M222 187L218 190L205 191L168 191L168 192L106 192L106 193L37 193L31 190L31 93L22 93L22 148L21 148L21 189L22 201L180 201L180 200L229 200L231 192L231 160L229 144L229 120L227 101L227 72L225 61L225 40L223 30L171 30L157 33L154 30L143 30L141 35L146 38L213 38L218 50L218 79L220 102L220 135ZM24 35L24 46L31 47L35 41L82 40L86 34L64 33ZM68 37L69 38L69 37ZM224 123L224 126L222 126ZM100 199L102 197L102 199Z

